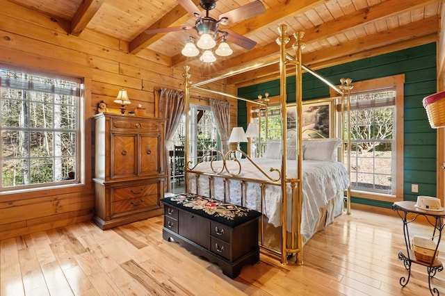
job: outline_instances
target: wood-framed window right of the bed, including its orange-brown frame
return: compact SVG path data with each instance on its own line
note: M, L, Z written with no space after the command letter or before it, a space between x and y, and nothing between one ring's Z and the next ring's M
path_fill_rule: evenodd
M353 83L350 181L355 197L403 199L403 83L403 75Z

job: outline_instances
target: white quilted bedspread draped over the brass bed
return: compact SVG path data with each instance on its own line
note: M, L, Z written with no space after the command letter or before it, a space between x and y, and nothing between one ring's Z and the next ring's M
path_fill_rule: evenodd
M268 172L270 176L275 179L278 176L277 172L269 172L270 167L280 168L281 160L275 158L255 158L255 163L262 170ZM241 160L242 171L239 174L240 177L248 179L267 180L267 178L260 174L256 167L251 165L247 160ZM227 168L232 173L238 172L238 164L235 161L227 161ZM213 161L213 169L220 171L222 167L221 161ZM286 162L287 178L296 178L296 161L288 160ZM212 172L210 162L200 163L195 167L196 172ZM227 172L223 172L226 176L229 176ZM339 195L345 190L349 184L348 174L342 163L332 161L303 161L302 163L302 222L301 233L303 236L312 236L314 233L314 224L318 220L319 208L323 208L327 205L330 199ZM223 199L221 196L224 191L223 178L213 178L213 188L210 188L209 179L205 176L200 177L199 192L194 192L196 189L196 177L195 174L189 174L188 188L193 193L209 196L216 199ZM227 181L228 186L227 202L232 204L241 204L241 183L236 179L230 179ZM246 182L246 200L243 206L253 208L257 211L261 211L261 189L259 183ZM291 187L286 188L287 196L291 196ZM281 188L280 186L266 185L265 188L265 204L263 213L268 217L269 223L275 227L281 224L280 215L281 204ZM291 204L290 198L288 199L288 213L290 213ZM290 215L288 215L288 225L290 225ZM289 228L288 228L289 231Z

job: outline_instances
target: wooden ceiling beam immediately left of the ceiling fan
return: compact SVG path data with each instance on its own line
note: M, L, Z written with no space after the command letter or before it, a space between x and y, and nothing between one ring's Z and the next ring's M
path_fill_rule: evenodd
M200 0L193 0L193 3L195 3L196 6L200 7ZM188 22L191 17L192 16L181 5L178 4L167 14L161 15L161 18L154 22L152 26L149 26L147 30L152 30L155 28L168 28L172 26L182 26L184 25L184 23ZM129 53L138 54L140 51L147 48L150 44L161 39L164 34L165 33L149 35L145 33L145 31L143 31L142 33L137 35L136 38L129 42Z

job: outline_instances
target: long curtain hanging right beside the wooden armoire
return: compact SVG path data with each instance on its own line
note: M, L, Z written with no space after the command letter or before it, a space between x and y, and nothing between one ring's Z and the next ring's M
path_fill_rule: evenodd
M170 192L170 163L168 145L181 121L181 116L185 113L184 92L178 90L170 90L161 88L159 95L159 117L167 119L165 122L165 160L164 167L167 171L168 181L166 183L165 192Z

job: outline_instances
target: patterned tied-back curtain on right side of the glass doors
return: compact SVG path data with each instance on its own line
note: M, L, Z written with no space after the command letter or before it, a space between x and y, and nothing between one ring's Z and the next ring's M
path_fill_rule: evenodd
M209 99L209 104L216 120L221 142L223 143L221 151L223 151L223 154L226 154L229 151L229 143L227 141L230 136L230 104L228 101L219 99Z

